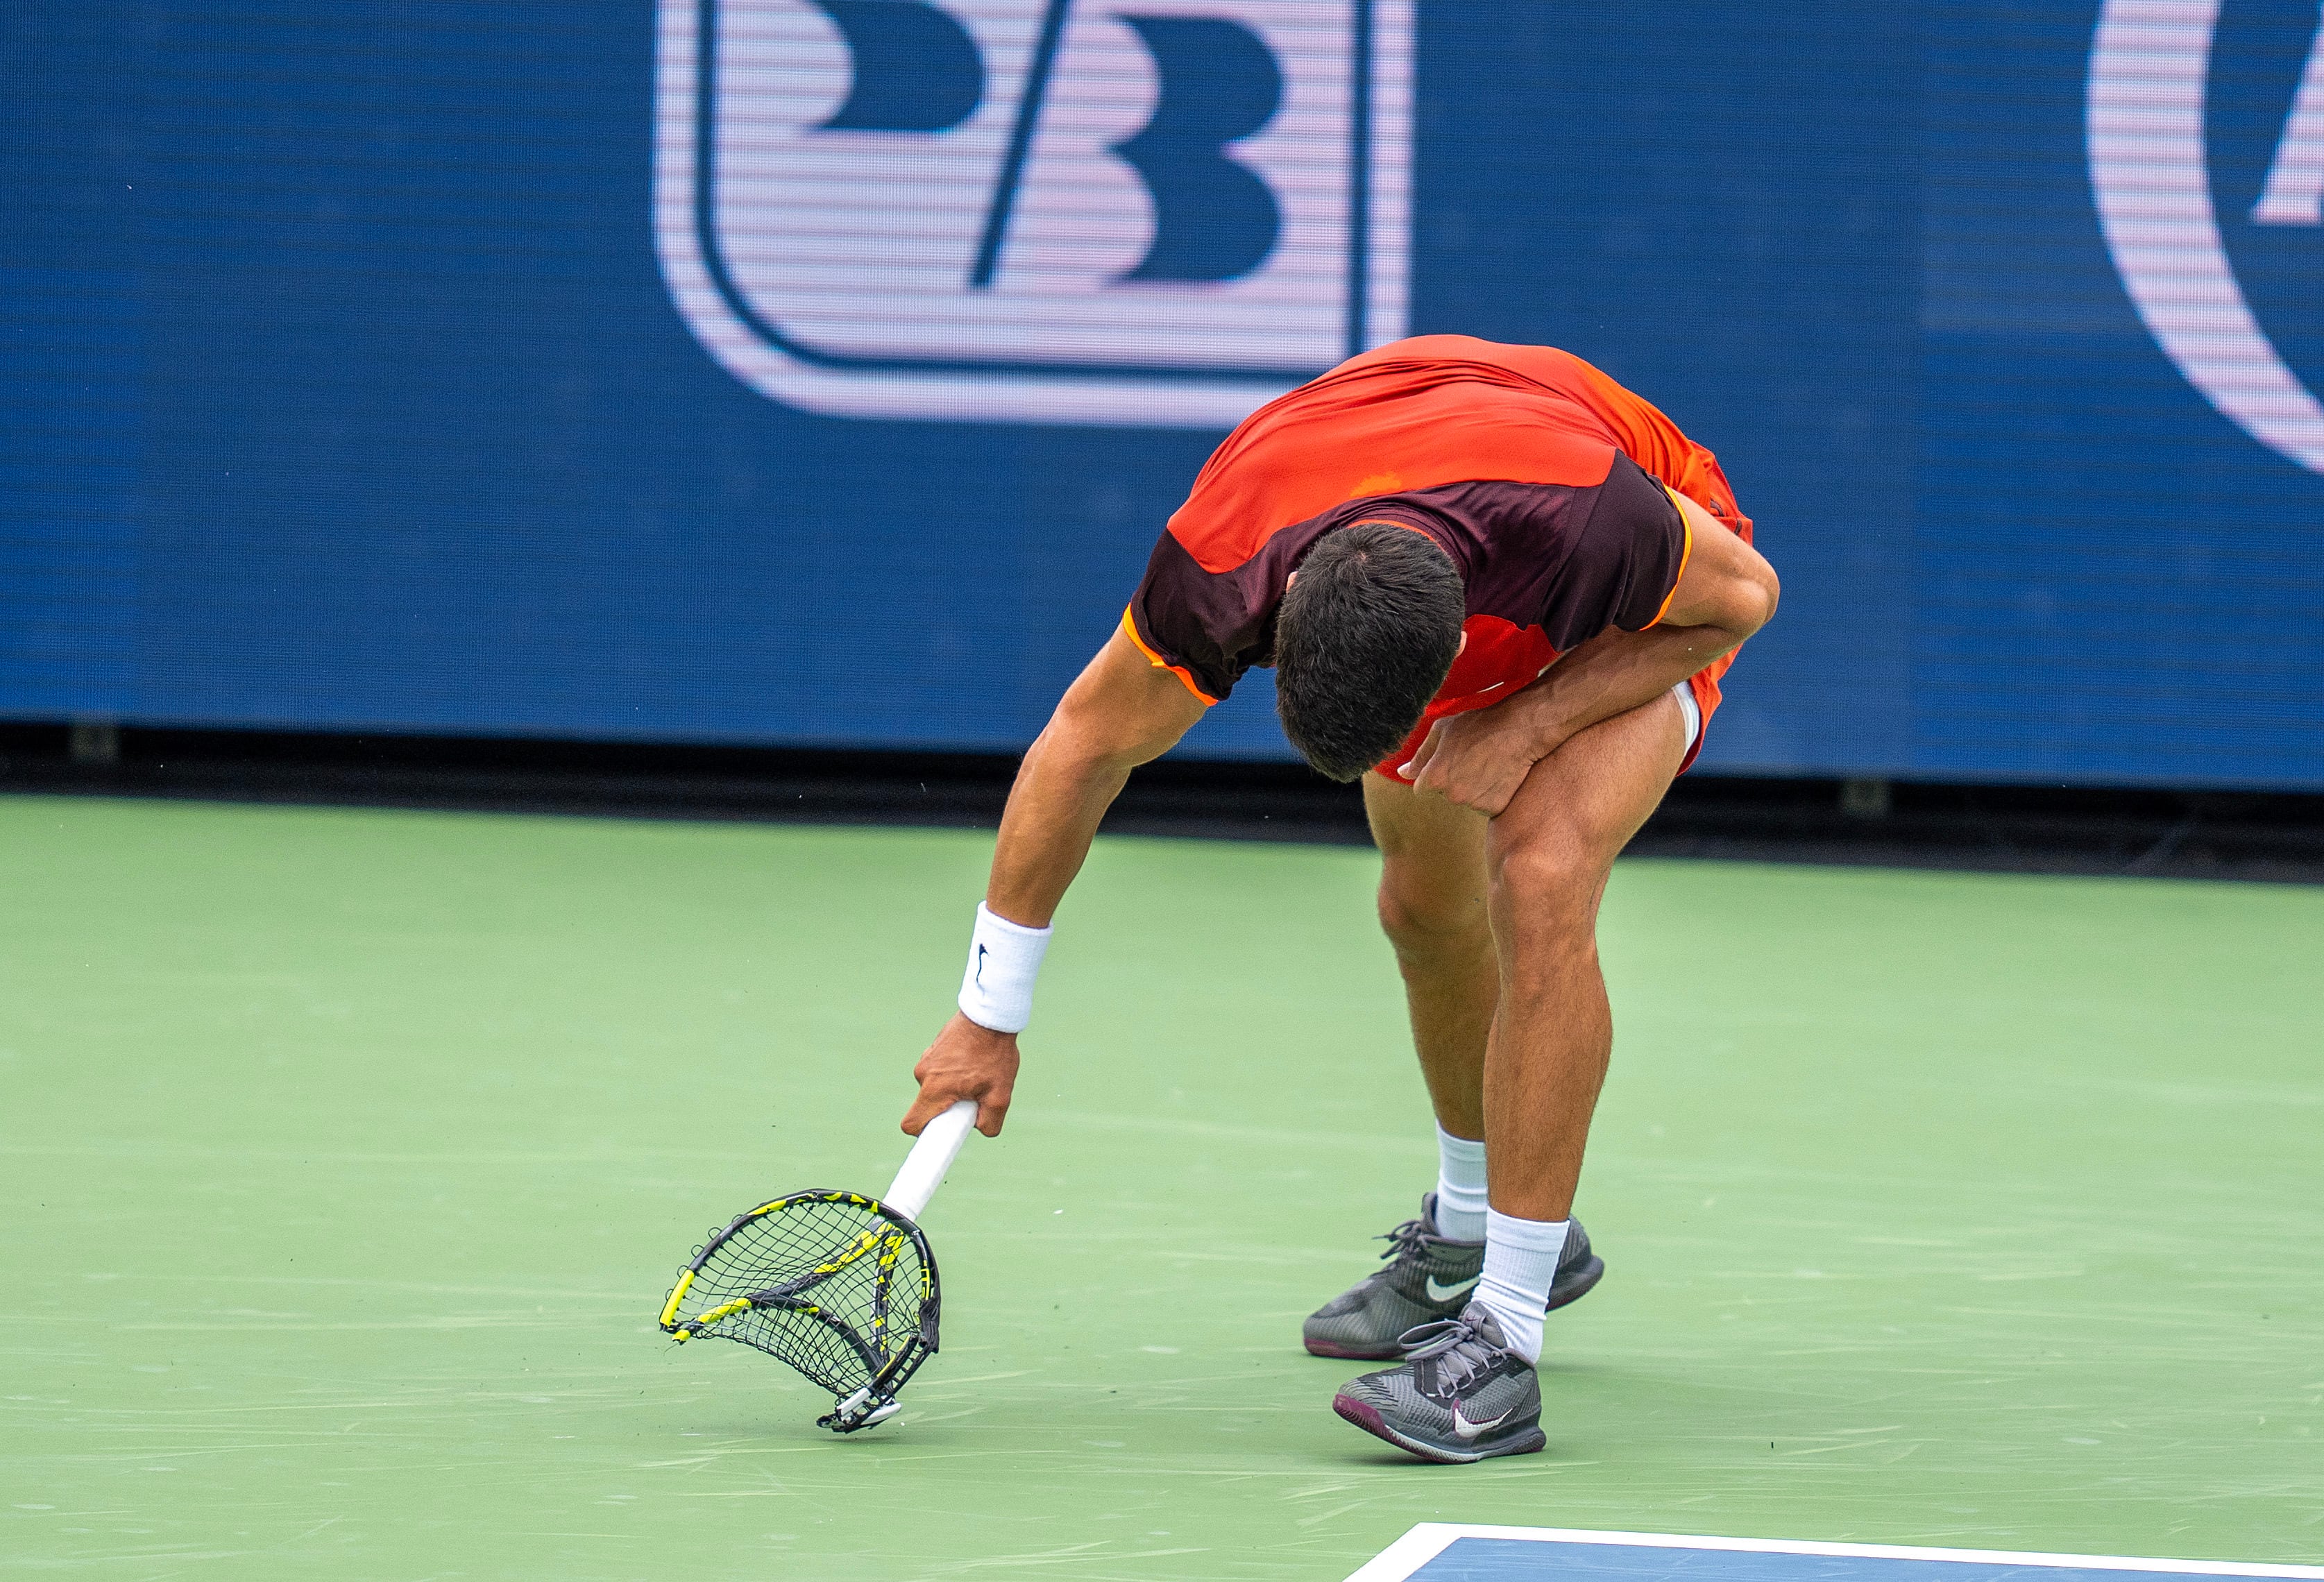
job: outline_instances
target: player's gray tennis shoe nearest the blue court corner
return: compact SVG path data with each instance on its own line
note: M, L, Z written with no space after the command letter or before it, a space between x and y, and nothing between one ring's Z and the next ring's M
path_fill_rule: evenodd
M1404 1361L1341 1385L1332 1410L1422 1461L1522 1457L1548 1445L1541 1375L1483 1303L1404 1336Z

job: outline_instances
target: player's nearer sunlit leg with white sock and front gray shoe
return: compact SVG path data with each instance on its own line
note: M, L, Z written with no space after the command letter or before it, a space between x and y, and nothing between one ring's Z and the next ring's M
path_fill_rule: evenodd
M1541 1450L1541 1310L1555 1285L1613 1020L1597 911L1615 855L1690 746L1676 697L1606 720L1527 776L1485 839L1501 997L1485 1050L1492 1213L1476 1301L1332 1408L1432 1461Z

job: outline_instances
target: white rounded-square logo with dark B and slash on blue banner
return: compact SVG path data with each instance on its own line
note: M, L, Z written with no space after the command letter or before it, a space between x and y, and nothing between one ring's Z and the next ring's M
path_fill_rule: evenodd
M1404 335L1411 0L662 0L655 237L818 411L1227 427Z

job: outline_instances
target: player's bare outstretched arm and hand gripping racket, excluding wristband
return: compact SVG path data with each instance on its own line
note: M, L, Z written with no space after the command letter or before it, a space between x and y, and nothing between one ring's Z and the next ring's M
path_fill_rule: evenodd
M985 883L992 927L1048 927L1129 771L1178 746L1204 706L1178 676L1113 630L1018 767ZM976 1129L999 1136L1016 1069L1013 1031L995 1031L955 1011L911 1069L920 1096L904 1113L904 1131L918 1136L955 1101L976 1099Z

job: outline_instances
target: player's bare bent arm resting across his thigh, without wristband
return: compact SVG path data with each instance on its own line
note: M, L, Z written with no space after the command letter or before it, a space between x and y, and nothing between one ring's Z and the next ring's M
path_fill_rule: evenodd
M1773 618L1776 567L1692 499L1678 511L1687 562L1662 620L1599 632L1506 704L1441 720L1413 757L1418 790L1497 815L1571 736L1650 704Z

